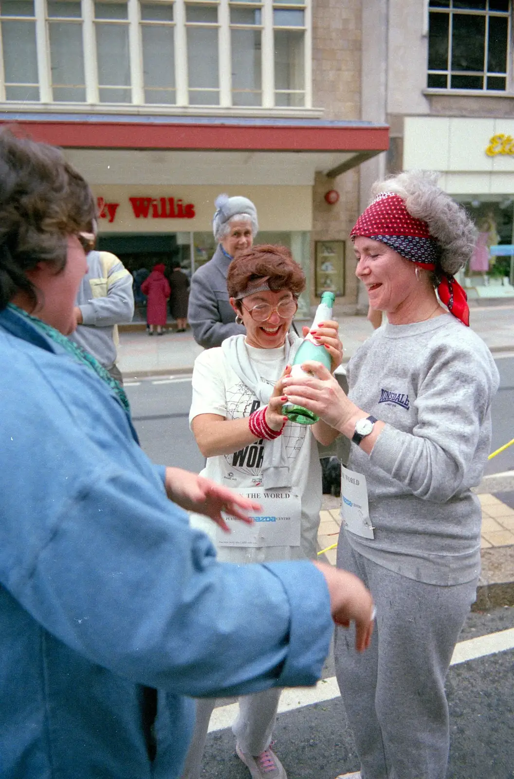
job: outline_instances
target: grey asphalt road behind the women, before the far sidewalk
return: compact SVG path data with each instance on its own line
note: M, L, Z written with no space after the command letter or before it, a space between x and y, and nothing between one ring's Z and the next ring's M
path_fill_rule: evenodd
M491 451L514 438L514 358L496 360L500 373L500 389L492 409ZM203 457L189 431L188 412L191 404L189 379L143 379L125 387L132 406L132 418L146 453L156 463L199 472ZM485 473L514 471L514 446L493 460Z

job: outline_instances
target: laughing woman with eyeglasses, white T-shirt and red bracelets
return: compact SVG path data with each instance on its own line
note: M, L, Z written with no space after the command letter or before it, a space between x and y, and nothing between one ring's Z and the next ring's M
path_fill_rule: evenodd
M282 379L301 344L290 325L305 275L289 249L260 245L232 261L227 288L246 335L227 338L221 347L196 358L189 420L207 458L202 475L242 494L259 495L263 516L237 537L234 532L229 537L213 532L198 515L191 521L211 536L220 560L241 564L314 559L322 501L316 441L332 441L333 431L324 422L312 427L291 423L282 413ZM337 329L335 322L326 322L315 333L330 353L333 370L343 356ZM280 689L273 688L239 700L233 725L236 752L252 777L286 777L269 749L279 698ZM183 779L200 775L215 704L213 699L197 701Z

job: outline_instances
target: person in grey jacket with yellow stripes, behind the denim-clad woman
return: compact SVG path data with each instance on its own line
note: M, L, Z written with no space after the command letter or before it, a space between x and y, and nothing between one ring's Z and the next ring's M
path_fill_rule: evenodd
M121 371L116 365L117 325L132 322L132 276L116 255L94 251L93 233L82 233L80 240L87 252L87 273L76 298L77 328L69 337L93 354L112 378L122 384Z

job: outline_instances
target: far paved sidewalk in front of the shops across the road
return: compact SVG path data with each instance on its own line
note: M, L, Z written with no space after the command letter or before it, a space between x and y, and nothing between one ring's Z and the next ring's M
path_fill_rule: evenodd
M372 333L365 316L340 316L340 333L344 359L349 360ZM493 352L514 351L514 305L488 305L471 308L470 323ZM298 322L301 325L310 322ZM125 378L149 375L191 373L195 358L203 351L195 343L191 331L149 337L145 330L120 332L118 366Z

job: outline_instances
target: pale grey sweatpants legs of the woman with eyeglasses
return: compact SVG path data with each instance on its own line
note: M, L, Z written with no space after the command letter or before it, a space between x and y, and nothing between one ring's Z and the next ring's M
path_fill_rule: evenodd
M239 714L232 725L232 731L243 752L257 756L268 749L275 727L276 709L281 692L279 687L272 687L263 690L262 693L239 698ZM209 719L218 702L216 698L196 700L195 730L181 779L199 779Z

